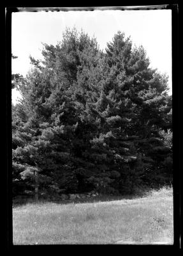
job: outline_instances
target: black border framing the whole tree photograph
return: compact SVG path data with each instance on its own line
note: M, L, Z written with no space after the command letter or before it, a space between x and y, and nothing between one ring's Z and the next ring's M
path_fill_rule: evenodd
M21 6L21 4L19 5ZM96 6L96 7L93 7ZM29 9L27 9L29 8ZM9 252L14 251L18 252L18 250L25 250L27 252L27 249L30 250L30 252L34 252L34 246L17 246L13 245L13 225L12 225L12 195L11 195L11 13L12 12L38 12L40 10L43 10L43 8L40 7L13 7L12 5L7 7L5 9L5 51L6 51L6 57L5 57L5 63L6 63L6 227L5 227L5 234L6 239L6 250ZM174 244L173 245L127 245L127 244L119 244L118 246L122 245L122 249L128 250L128 252L131 251L131 248L135 250L137 253L138 250L144 250L145 252L175 252L182 248L180 246L180 243L182 244L182 240L180 241L180 237L182 237L182 231L180 230L180 224L182 221L182 211L180 209L182 208L181 204L181 188L180 188L180 170L183 167L182 164L182 140L180 139L181 136L181 129L180 129L180 120L182 116L182 112L180 111L180 97L182 94L182 88L180 88L180 68L179 68L179 5L177 3L175 4L152 4L150 6L139 5L130 5L123 6L122 8L120 6L97 6L96 4L93 4L91 6L74 6L74 7L47 7L48 10L52 10L52 12L59 12L61 10L64 11L70 11L70 10L159 10L159 9L165 9L165 10L172 10L172 98L173 98L173 219L174 219ZM180 208L181 207L181 208ZM28 247L27 247L28 246ZM53 247L54 246L54 247ZM44 246L37 246L36 251L37 252L43 252L49 251L52 252L55 248L60 248L60 246L66 246L67 253L70 251L68 248L68 245L44 245ZM76 245L73 245L75 252L80 252L80 249L84 249L84 245L79 245L76 247ZM70 248L73 248L71 246ZM81 247L82 246L82 247ZM113 245L106 245L103 246L106 248L107 252L113 252L115 248L119 248L118 246L113 247ZM87 245L88 247L88 245ZM97 247L97 249L100 247L99 245L95 244L94 247L90 246L90 250L92 252L92 248ZM111 250L112 249L112 250ZM110 251L111 250L111 251ZM140 252L140 251L139 251Z

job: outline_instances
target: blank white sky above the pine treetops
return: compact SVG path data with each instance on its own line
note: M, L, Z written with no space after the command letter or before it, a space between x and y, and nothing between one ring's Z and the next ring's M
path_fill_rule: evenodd
M12 13L11 51L12 73L26 76L31 68L29 56L41 59L43 43L57 44L66 27L83 29L95 36L100 49L105 51L117 31L131 36L133 44L143 45L150 59L150 67L169 76L172 94L172 11L171 10L95 10L69 12ZM15 104L19 93L12 92Z

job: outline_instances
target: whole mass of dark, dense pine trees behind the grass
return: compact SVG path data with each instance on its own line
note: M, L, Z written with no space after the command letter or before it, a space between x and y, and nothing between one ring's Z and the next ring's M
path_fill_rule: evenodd
M12 76L13 195L96 190L134 193L172 180L172 96L143 47L118 32L96 38L67 29L43 45L44 60Z

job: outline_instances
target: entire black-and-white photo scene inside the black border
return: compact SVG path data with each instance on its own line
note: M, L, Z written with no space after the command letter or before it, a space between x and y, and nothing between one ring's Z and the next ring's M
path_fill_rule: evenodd
M172 10L12 13L11 120L13 245L173 244Z

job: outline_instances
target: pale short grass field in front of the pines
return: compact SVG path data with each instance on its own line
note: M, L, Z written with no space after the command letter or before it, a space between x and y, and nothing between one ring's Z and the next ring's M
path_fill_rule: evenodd
M173 192L85 204L13 208L13 244L173 244Z

